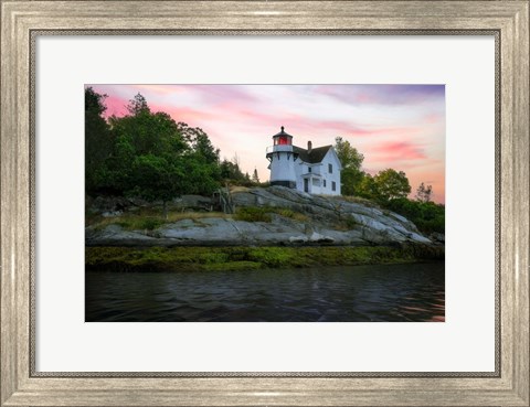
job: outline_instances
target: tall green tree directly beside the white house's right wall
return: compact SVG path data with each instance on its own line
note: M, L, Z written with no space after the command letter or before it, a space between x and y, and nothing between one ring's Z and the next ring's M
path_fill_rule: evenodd
M341 171L341 192L343 195L356 195L365 173L361 170L364 156L353 148L349 141L342 137L335 139L335 150L342 165Z

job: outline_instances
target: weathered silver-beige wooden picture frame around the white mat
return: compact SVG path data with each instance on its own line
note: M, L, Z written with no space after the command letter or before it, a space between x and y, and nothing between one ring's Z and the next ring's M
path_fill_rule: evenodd
M2 1L0 405L529 406L529 2ZM288 24L287 24L288 22ZM288 30L286 30L288 26ZM463 373L35 371L34 39L54 35L495 35L498 366Z

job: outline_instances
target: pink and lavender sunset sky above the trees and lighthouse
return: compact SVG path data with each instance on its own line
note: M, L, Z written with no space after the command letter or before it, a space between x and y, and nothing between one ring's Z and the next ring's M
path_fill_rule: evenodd
M202 128L221 158L237 157L243 172L267 181L265 150L280 126L307 148L342 137L374 175L405 172L411 197L421 182L445 203L444 85L86 85L106 94L106 116L124 116L136 94L151 111Z

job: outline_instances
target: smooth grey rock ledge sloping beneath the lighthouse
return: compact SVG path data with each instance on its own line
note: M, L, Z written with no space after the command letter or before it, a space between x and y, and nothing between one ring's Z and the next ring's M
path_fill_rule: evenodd
M252 246L252 245L434 245L395 213L340 197L315 196L283 186L233 194L236 207L271 211L271 222L232 217L186 218L153 231L118 225L87 227L88 246ZM275 211L275 208L289 210ZM293 216L297 214L298 216ZM289 216L290 215L290 216ZM439 237L439 236L438 236ZM439 244L439 238L436 239Z

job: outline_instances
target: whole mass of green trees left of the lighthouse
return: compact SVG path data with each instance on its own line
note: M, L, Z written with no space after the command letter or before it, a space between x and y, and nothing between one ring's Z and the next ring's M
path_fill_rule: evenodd
M150 110L136 95L124 117L105 119L105 98L85 89L85 185L89 195L137 196L163 203L181 194L210 195L225 182L256 185L239 160L220 159L200 128Z

